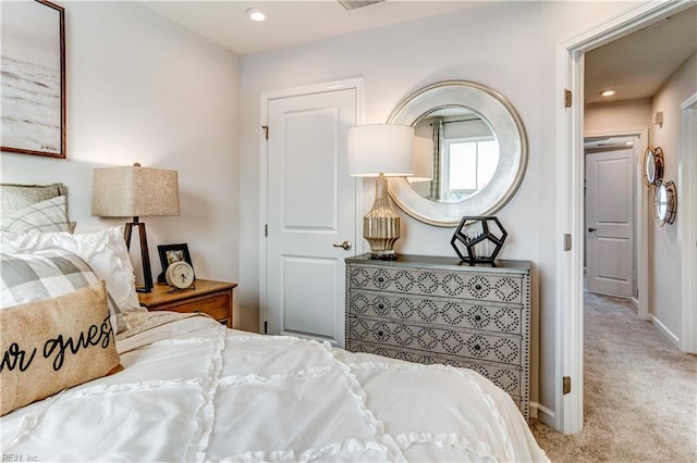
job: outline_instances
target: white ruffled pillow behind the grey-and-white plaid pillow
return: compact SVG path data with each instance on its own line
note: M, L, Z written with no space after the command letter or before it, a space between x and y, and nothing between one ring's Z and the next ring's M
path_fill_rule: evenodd
M36 252L60 248L80 255L97 276L107 281L107 290L121 312L142 312L135 292L135 275L123 239L123 226L91 234L44 233L0 235L2 248L12 252Z

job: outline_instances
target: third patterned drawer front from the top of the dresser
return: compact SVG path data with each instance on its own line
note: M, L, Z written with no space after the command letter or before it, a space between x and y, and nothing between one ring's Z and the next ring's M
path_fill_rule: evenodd
M351 340L521 365L521 338L348 317Z

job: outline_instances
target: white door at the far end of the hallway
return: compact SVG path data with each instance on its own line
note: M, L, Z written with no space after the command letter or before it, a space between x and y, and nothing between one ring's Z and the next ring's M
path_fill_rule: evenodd
M587 288L633 297L634 150L586 155Z

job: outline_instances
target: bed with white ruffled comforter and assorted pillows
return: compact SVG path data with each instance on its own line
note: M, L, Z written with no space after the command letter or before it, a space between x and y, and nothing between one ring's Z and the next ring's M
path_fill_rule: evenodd
M2 212L3 460L548 461L474 371L147 312L121 227L16 229L52 199Z

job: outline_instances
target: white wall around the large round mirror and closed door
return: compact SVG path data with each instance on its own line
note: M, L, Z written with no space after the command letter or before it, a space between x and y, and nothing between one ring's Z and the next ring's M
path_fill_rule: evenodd
M533 400L554 411L554 235L557 43L586 30L632 3L504 2L462 13L347 35L320 43L242 58L241 77L241 304L258 310L259 281L259 107L260 93L348 77L365 78L364 123L384 122L414 90L444 79L466 79L501 92L519 113L528 135L525 178L497 213L509 232L502 259L534 262ZM372 184L364 184L364 210ZM453 255L453 228L438 228L402 215L405 233L398 251ZM549 421L549 416L547 416Z

